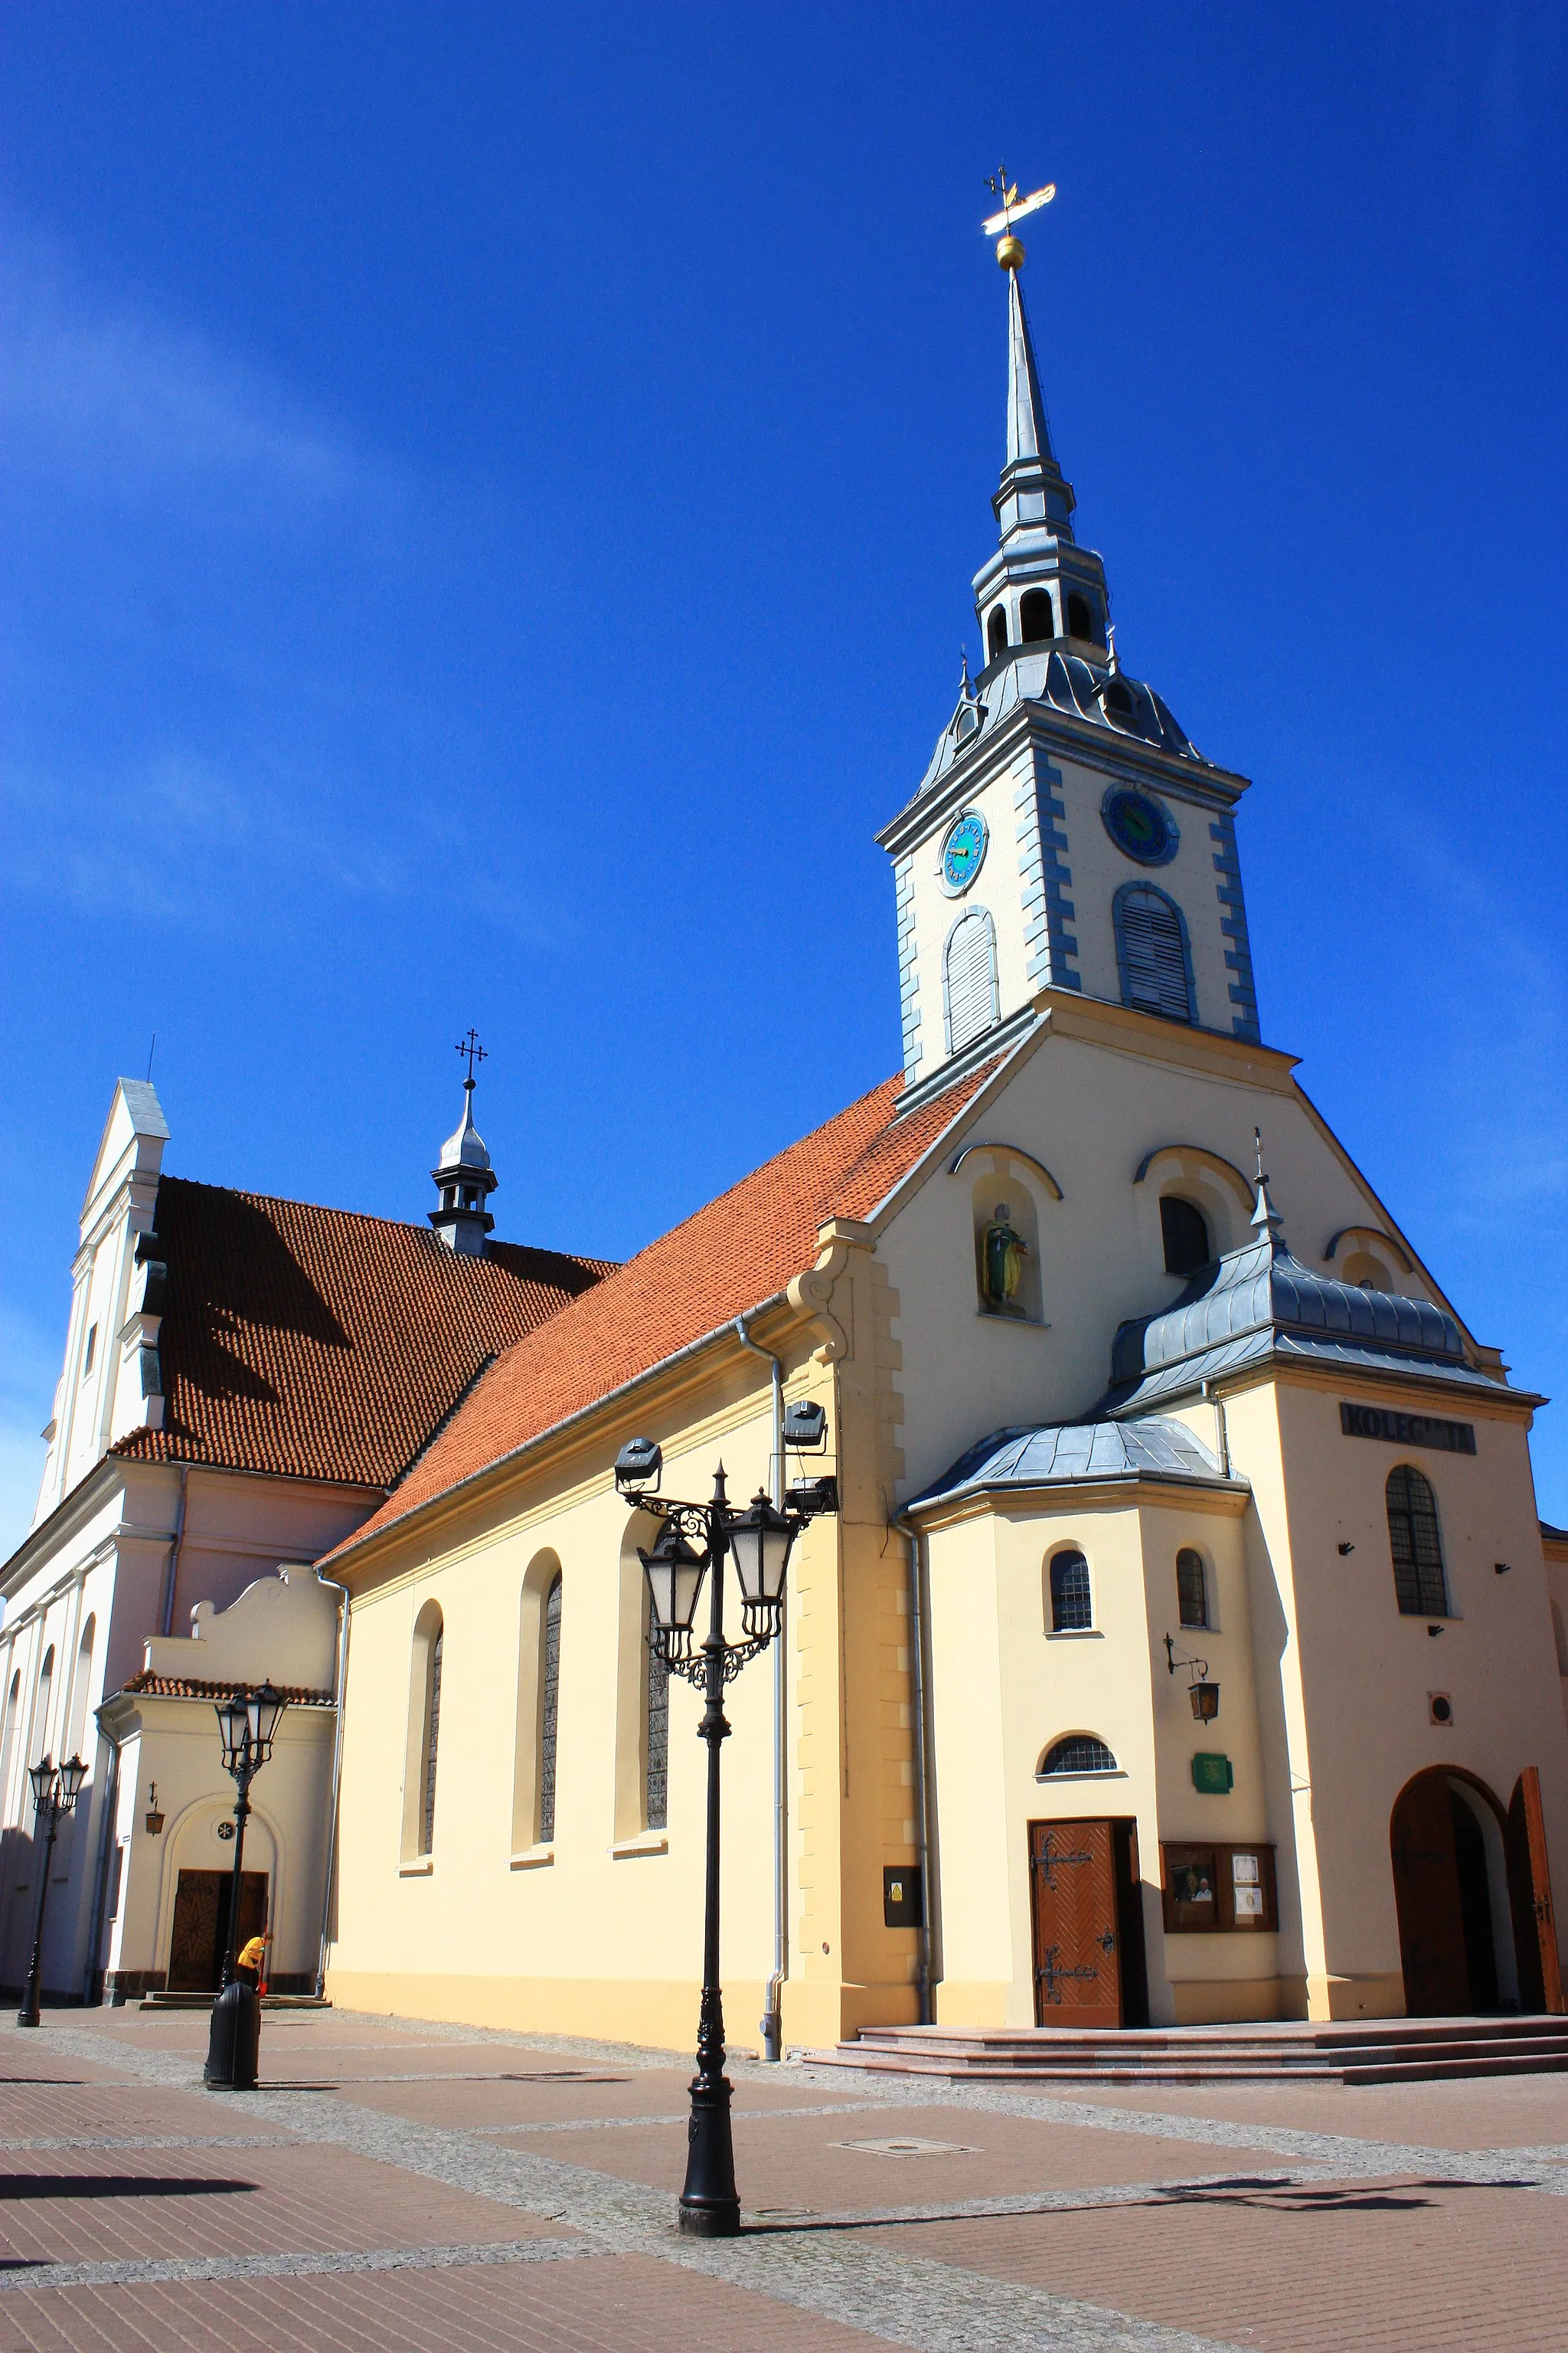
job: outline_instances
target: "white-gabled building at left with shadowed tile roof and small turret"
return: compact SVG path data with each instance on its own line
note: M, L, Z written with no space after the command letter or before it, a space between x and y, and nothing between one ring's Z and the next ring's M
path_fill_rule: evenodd
M458 1049L465 1052L465 1049ZM489 1238L463 1118L423 1226L165 1172L122 1078L87 1181L33 1529L0 1567L0 1984L38 1920L28 1767L87 1774L54 1847L47 2000L216 1986L235 1788L214 1704L289 1699L256 1779L244 1925L320 1991L343 1593L310 1562L367 1520L487 1365L604 1273ZM280 1574L282 1572L282 1574Z

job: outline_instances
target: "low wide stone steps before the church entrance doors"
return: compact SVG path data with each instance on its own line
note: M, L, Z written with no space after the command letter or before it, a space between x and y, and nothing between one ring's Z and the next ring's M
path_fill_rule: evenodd
M816 2064L945 2082L1443 2082L1568 2073L1568 2019L1387 2019L1368 2026L867 2026Z

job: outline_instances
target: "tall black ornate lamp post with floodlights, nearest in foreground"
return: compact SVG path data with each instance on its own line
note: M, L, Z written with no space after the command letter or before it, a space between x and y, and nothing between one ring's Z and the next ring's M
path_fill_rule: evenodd
M827 1417L820 1405L797 1402L790 1407L785 1417L788 1445L816 1449L825 1435ZM710 1504L677 1504L654 1492L661 1471L663 1457L651 1438L628 1440L616 1457L616 1487L625 1501L635 1511L649 1511L663 1520L651 1551L639 1548L637 1553L649 1581L649 1642L677 1675L684 1675L703 1694L698 1737L708 1744L703 2002L679 2226L691 2238L733 2238L741 2231L741 2198L729 2129L731 2087L724 2073L724 1993L719 1988L719 1746L729 1739L724 1685L733 1682L745 1661L764 1652L783 1631L783 1588L795 1539L809 1520L837 1511L839 1497L832 1478L818 1478L795 1485L785 1511L778 1511L762 1489L745 1511L738 1511L726 1499L724 1464L719 1464ZM733 1555L741 1584L743 1642L724 1640L726 1553ZM691 1657L691 1626L708 1569L712 1569L708 1638L698 1657Z

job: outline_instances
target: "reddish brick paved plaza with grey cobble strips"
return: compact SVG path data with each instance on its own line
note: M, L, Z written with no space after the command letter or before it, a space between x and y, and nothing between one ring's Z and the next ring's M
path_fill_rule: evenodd
M205 2042L2 2031L0 2353L1568 2348L1568 2075L1056 2099L741 2064L748 2231L703 2245L684 2064L273 2012L263 2087L219 2094Z

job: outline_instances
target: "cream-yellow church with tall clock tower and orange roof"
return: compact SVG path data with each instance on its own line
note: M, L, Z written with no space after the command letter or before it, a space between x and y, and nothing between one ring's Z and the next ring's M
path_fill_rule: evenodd
M1121 664L999 259L985 664L879 835L903 1068L505 1346L322 1562L348 2005L689 2040L698 1699L614 1464L766 1489L797 1400L839 1511L726 1701L731 2038L1563 2005L1542 1400L1267 1042L1246 776Z

